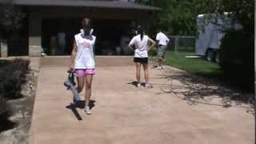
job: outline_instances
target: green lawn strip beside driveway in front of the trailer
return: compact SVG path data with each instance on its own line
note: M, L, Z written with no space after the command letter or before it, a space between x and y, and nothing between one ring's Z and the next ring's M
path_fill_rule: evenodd
M175 52L167 51L166 64L181 70L186 70L191 74L202 76L220 77L222 70L220 66L214 62L206 62L202 58L186 58L186 56L195 55L193 52Z

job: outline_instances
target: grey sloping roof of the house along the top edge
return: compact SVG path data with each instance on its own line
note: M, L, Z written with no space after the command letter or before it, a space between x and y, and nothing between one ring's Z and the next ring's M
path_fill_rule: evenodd
M14 0L18 6L75 6L130 10L160 10L158 7L139 5L134 2L102 0Z

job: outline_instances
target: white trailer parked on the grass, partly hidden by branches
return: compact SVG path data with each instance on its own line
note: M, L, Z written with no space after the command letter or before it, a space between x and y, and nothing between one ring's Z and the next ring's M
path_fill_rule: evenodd
M226 28L242 29L237 22L231 22L232 19L234 20L230 13L225 13L224 17L216 16L208 20L206 20L205 14L199 14L195 53L205 57L207 61L219 62L221 40L225 35L223 30Z

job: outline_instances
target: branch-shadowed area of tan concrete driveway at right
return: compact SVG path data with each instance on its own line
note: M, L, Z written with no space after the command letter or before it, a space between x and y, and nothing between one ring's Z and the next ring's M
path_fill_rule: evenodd
M227 86L218 78L200 77L181 70L165 70L162 77L162 92L172 93L178 98L190 102L190 105L198 103L223 106L244 107L247 112L254 112L254 94L236 90Z

